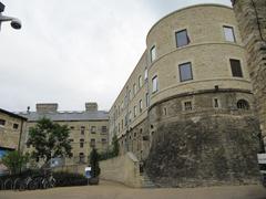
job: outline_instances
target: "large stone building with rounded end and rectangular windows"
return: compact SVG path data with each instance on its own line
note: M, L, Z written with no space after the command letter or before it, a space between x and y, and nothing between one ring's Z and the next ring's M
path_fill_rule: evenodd
M232 8L161 19L110 111L110 137L161 186L256 181L259 126Z

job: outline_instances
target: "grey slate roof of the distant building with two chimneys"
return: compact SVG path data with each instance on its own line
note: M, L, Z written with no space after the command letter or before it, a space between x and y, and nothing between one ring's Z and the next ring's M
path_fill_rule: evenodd
M54 122L78 122L78 121L108 121L109 113L104 111L95 112L49 112L49 113L19 113L19 115L27 117L28 122L37 122L42 117L50 118Z

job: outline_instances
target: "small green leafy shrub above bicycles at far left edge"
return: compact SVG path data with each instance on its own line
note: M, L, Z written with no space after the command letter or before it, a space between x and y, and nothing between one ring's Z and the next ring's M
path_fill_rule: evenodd
M1 163L8 167L12 175L21 172L28 161L29 154L22 155L17 150L8 153L1 159Z

